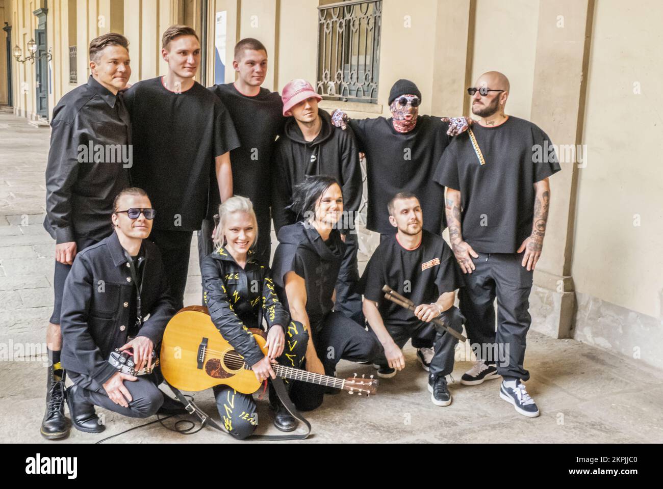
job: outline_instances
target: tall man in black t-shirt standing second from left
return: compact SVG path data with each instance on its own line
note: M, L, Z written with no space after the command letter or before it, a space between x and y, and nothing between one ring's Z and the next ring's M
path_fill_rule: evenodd
M192 231L210 209L210 174L221 199L233 193L229 151L239 146L223 103L194 80L200 64L196 32L174 25L162 36L168 74L133 85L125 95L131 113L136 164L133 183L159 209L151 239L158 246L177 309L184 288Z

